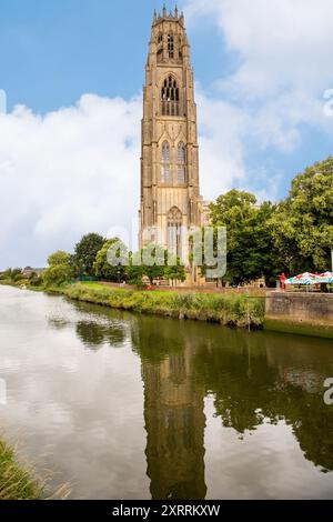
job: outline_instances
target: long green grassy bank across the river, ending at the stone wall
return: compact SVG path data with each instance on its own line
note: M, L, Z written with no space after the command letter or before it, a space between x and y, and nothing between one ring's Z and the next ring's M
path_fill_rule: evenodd
M230 327L261 328L264 319L264 299L245 295L125 290L100 283L75 283L53 291L78 301Z

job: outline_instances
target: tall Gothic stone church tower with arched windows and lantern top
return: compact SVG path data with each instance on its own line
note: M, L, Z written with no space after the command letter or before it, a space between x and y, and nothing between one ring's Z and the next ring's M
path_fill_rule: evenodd
M190 46L183 14L164 6L154 13L145 66L140 248L158 242L185 260L185 231L204 215Z

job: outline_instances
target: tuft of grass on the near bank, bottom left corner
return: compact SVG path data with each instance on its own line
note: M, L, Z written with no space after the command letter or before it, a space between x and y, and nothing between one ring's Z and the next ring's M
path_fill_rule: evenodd
M30 470L21 466L14 451L0 439L0 500L39 500L43 489Z

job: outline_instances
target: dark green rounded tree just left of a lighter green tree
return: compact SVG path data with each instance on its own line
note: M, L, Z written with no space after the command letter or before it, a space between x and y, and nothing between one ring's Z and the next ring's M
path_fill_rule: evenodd
M81 275L94 275L93 264L98 252L105 243L105 238L98 233L89 233L81 238L74 250L73 262L75 271Z

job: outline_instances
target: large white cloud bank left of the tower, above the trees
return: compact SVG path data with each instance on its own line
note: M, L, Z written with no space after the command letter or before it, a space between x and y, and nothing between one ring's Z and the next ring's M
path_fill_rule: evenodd
M43 117L0 114L0 267L42 263L137 217L141 101L83 96ZM38 252L37 252L38 251Z

